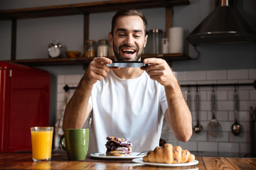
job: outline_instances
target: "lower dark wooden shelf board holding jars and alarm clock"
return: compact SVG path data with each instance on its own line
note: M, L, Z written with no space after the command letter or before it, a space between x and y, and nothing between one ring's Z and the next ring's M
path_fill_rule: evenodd
M142 55L142 58L159 57L166 62L172 62L175 60L189 60L187 55L183 53L176 54L159 54L159 55ZM114 57L109 57L114 59ZM78 57L78 58L48 58L48 59L33 59L33 60L10 60L8 62L14 62L17 64L24 64L27 66L50 66L50 65L75 65L75 64L89 64L93 57Z

